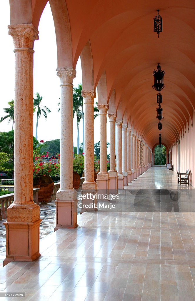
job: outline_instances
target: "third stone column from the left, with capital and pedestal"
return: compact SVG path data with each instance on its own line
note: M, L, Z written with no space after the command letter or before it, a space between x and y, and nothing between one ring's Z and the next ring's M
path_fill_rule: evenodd
M85 181L82 184L82 209L84 211L97 211L97 184L94 181L94 130L93 130L93 104L96 92L82 91L85 112ZM93 196L92 196L93 194ZM92 197L91 197L92 196ZM93 200L94 198L94 200ZM86 206L87 205L87 206ZM90 206L90 207L88 207Z

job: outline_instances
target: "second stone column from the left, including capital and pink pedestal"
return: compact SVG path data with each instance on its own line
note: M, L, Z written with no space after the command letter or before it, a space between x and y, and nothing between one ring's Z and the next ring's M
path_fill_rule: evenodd
M61 87L60 189L56 193L56 226L77 227L77 191L73 188L73 68L56 69Z

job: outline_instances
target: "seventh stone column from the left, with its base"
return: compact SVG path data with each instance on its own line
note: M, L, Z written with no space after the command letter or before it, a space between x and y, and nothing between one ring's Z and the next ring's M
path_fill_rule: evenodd
M123 185L128 186L128 174L127 174L127 124L122 125L122 174Z

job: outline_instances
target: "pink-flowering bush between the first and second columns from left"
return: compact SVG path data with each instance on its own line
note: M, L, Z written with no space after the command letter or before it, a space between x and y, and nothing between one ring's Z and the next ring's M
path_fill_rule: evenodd
M60 175L60 155L58 155L58 161L56 162L54 157L48 159L48 152L46 155L40 155L39 150L33 150L33 178L39 178L41 176Z

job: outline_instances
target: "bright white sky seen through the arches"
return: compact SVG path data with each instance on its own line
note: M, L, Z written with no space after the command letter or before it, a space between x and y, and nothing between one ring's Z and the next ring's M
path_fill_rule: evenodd
M0 117L5 116L3 108L8 107L8 101L14 99L14 44L11 36L8 36L8 25L10 24L9 1L2 1L0 5L0 28L1 40L0 47ZM60 113L58 113L58 102L61 96L59 86L60 79L56 75L57 68L57 48L55 39L55 29L49 2L43 11L39 23L39 40L34 43L34 93L39 92L43 97L41 104L46 105L51 110L47 116L40 117L38 122L38 140L54 140L60 138ZM82 83L82 73L80 58L76 66L77 75L73 85ZM97 98L95 98L97 101ZM94 122L94 143L100 140L99 119L96 117ZM109 123L109 122L108 122ZM109 142L109 125L107 123L107 141ZM33 120L33 135L36 132L36 114ZM0 123L0 131L7 132L12 128L12 123L8 119ZM79 125L80 142L83 142L82 121ZM74 118L73 122L74 146L77 145L77 124ZM108 150L109 153L109 150Z

